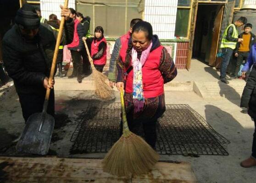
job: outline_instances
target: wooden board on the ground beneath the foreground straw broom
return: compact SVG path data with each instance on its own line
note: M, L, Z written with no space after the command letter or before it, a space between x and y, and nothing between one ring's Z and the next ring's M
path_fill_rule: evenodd
M102 160L58 157L0 157L0 180L5 183L196 183L187 162L158 162L147 175L112 176ZM175 183L176 183L175 182Z

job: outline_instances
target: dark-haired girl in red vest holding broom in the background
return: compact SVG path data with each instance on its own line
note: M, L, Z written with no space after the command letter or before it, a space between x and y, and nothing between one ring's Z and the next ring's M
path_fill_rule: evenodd
M103 28L101 26L96 26L94 37L83 37L83 40L87 40L86 42L91 45L91 58L93 59L93 64L95 68L102 73L103 68L106 65L107 49Z

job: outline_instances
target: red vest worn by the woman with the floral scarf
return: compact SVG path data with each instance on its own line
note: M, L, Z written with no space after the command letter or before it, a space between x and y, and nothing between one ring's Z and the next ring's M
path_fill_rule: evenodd
M122 46L120 50L120 56L122 62L125 62L126 48ZM142 67L142 82L143 82L143 93L145 98L157 97L164 92L164 79L161 75L159 68L161 51L163 47L157 47L150 52L148 59L146 60L144 66ZM128 69L128 68L126 68ZM125 92L133 92L133 69L128 73L126 78Z

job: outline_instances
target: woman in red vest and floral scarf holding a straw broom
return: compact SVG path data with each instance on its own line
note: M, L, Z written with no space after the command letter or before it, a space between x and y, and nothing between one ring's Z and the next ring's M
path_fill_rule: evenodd
M138 134L143 126L146 142L156 146L156 120L165 111L164 84L177 76L167 49L153 35L149 22L137 22L128 47L117 61L117 89L125 89L124 101L129 129Z

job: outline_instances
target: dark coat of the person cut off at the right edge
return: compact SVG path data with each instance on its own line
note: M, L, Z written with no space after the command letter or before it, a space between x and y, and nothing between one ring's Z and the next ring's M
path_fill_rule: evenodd
M256 118L256 65L253 65L241 98L241 107L248 108L248 114Z

